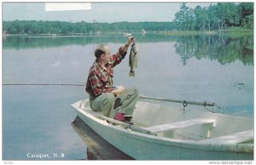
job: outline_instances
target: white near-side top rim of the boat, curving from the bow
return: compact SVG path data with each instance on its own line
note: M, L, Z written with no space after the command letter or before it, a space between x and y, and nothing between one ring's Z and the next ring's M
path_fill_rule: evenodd
M175 147L183 147L188 149L202 150L202 151L230 151L230 152L239 152L239 153L253 153L253 144L217 144L217 143L201 143L200 141L192 141L188 139L170 139L161 136L154 136L151 134L143 134L131 129L120 128L114 126L112 123L108 123L105 120L102 120L98 117L95 117L90 112L84 111L82 108L78 108L76 105L83 101L80 100L76 103L73 103L71 106L80 114L89 118L93 122L102 125L102 127L108 127L114 129L119 132L119 134L125 134L125 136L133 137L136 135L138 139L142 139L144 141L150 141L161 145L172 145ZM86 100L85 100L86 101ZM143 102L143 101L142 101ZM146 102L147 103L147 102ZM151 103L148 103L151 104ZM154 103L152 103L154 104ZM157 104L155 104L157 105ZM79 114L78 114L79 116ZM243 117L244 118L244 117Z

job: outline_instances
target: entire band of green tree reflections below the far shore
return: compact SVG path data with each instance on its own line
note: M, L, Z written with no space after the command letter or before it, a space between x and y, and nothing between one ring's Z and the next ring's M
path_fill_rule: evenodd
M191 58L218 60L222 65L236 60L244 65L253 65L253 35L186 35L167 36L157 34L135 35L138 43L176 42L176 53L183 65ZM124 43L122 35L79 36L79 37L4 37L3 48L55 48L67 45L91 43Z

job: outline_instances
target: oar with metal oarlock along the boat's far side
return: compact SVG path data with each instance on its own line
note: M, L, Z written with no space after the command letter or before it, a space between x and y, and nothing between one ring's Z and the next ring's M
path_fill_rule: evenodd
M159 97L150 97L143 94L140 94L139 96L141 99L148 99L148 100L160 100L160 101L168 101L168 102L174 102L174 103L182 103L183 106L186 105L202 105L202 106L215 106L215 103L207 103L207 101L204 102L198 102L198 101L186 101L186 100L172 100L172 99L164 99Z

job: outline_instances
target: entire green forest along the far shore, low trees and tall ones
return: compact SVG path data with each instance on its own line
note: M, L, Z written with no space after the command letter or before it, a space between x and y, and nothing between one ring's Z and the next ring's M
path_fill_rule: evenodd
M224 31L239 27L253 31L253 3L217 3L189 8L181 3L170 22L65 22L43 20L3 21L4 34L70 35L141 31Z

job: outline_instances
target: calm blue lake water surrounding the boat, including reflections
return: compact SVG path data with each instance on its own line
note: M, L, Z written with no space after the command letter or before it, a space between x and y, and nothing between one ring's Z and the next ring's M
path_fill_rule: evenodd
M136 77L128 76L127 55L114 69L114 85L136 87L149 96L207 100L224 114L253 117L252 35L135 37L140 48ZM84 84L96 44L108 43L115 53L126 39L3 37L3 160L86 159L70 106L88 98L84 87L6 84Z

